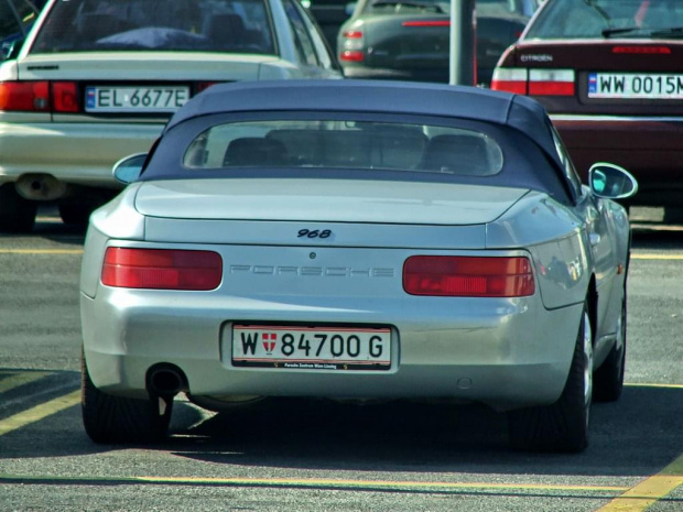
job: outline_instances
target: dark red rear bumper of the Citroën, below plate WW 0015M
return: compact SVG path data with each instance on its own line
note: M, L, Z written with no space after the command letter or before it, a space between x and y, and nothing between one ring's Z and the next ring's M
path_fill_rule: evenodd
M638 179L632 204L680 205L683 117L552 115L578 172L596 162L627 168Z

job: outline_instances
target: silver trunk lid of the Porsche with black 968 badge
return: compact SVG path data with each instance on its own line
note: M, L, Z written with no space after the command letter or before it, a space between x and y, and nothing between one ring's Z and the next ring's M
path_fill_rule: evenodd
M380 181L164 181L142 184L135 208L147 216L150 241L481 249L486 225L527 192Z

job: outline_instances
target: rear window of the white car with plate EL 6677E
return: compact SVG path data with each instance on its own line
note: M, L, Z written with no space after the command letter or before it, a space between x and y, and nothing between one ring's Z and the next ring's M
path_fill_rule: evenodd
M264 0L55 2L31 53L194 51L273 54Z

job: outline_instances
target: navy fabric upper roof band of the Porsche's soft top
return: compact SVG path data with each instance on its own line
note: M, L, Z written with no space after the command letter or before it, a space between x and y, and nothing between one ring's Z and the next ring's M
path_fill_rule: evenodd
M541 104L527 96L468 86L322 79L219 84L185 104L165 131L213 113L292 110L427 115L505 124L523 132L562 167Z

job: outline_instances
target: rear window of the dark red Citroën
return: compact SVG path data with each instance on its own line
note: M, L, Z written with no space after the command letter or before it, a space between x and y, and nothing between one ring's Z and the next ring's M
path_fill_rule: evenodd
M554 0L525 39L675 36L683 28L680 0Z

